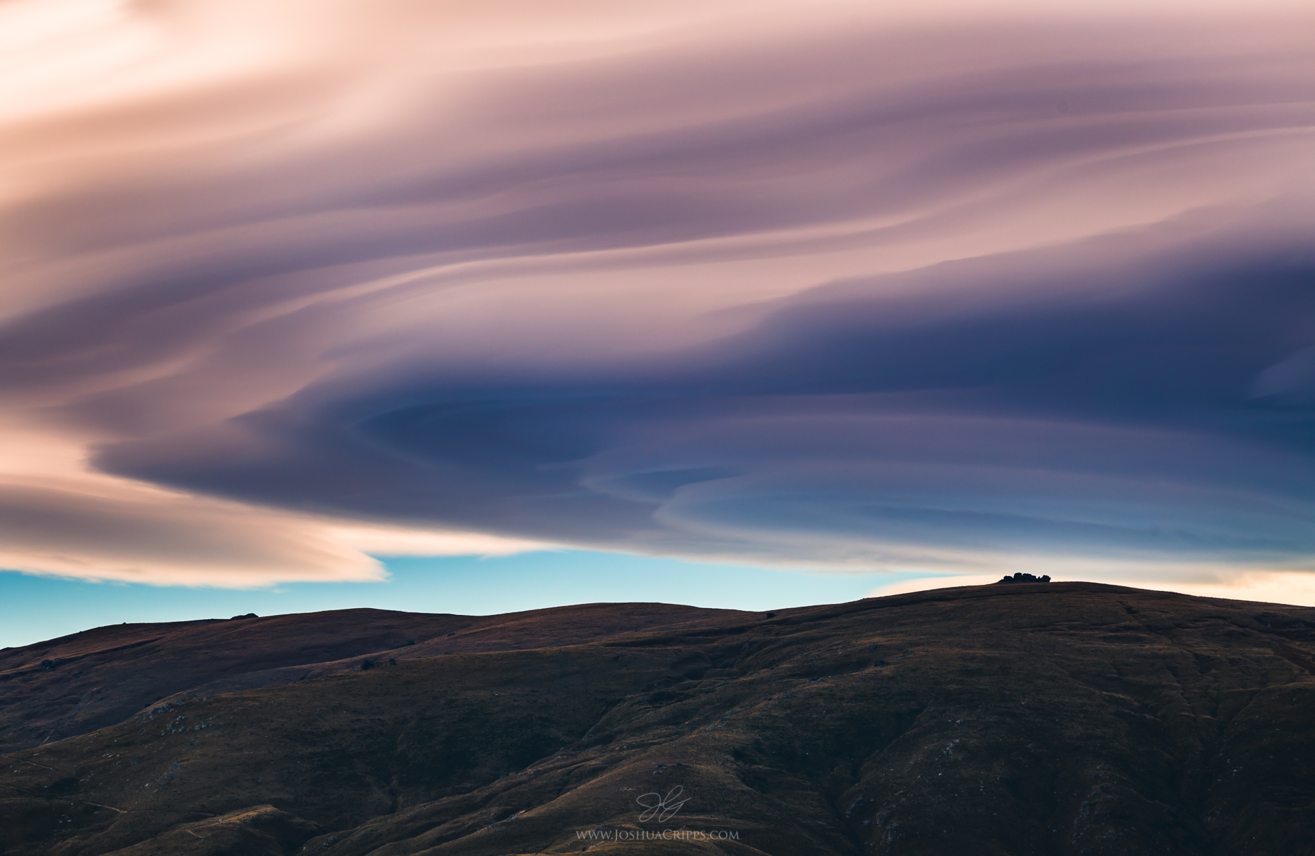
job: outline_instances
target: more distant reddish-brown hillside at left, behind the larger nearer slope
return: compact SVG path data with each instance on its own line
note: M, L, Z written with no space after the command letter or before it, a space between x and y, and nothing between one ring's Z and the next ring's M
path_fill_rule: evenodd
M358 668L362 657L572 644L735 614L667 604L600 604L506 615L343 609L97 627L0 651L0 752L103 728L175 694L338 675ZM42 665L57 659L54 668Z

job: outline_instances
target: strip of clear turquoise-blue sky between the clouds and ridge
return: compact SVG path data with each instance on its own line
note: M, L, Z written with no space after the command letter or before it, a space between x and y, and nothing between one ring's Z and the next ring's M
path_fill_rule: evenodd
M158 586L0 572L0 646L120 622L276 615L370 606L494 613L614 601L768 610L852 601L890 575L777 571L592 551L480 559L388 559L384 583L293 583L263 589Z

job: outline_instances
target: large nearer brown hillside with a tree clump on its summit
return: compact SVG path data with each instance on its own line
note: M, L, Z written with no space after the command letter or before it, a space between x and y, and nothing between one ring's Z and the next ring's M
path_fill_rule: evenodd
M1312 625L1311 609L1052 583L397 660L12 753L0 843L1315 853ZM668 817L643 815L655 794Z

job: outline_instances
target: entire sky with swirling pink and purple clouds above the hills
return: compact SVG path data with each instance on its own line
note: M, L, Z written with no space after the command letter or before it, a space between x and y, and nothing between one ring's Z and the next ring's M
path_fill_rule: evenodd
M1312 50L1287 0L3 0L0 598L1315 604Z

